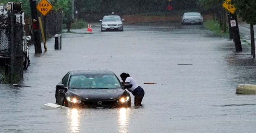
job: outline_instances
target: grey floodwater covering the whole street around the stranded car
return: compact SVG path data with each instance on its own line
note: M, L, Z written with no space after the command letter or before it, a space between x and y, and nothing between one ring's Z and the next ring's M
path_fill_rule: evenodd
M86 33L87 29L71 30ZM243 63L250 46L198 25L125 25L124 32L62 34L62 49L47 41L34 54L24 85L0 86L0 132L10 133L253 133L255 95L236 95L255 84L255 67ZM41 109L55 103L55 85L72 70L129 73L145 90L143 107ZM143 84L156 83L156 84ZM131 94L131 93L130 93ZM132 95L132 94L131 94Z

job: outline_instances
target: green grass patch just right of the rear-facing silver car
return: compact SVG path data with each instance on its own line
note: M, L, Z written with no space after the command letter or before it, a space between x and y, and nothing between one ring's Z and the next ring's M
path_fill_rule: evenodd
M229 38L229 28L228 28L228 26L227 26L226 31L222 32L222 29L221 29L218 21L214 21L214 20L205 21L203 23L203 25L204 25L205 28L207 28L210 31L216 33L217 35Z

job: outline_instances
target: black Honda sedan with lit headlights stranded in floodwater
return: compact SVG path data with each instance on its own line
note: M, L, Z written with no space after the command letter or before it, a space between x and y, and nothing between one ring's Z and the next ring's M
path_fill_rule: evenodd
M56 104L67 107L130 107L131 97L112 71L68 72L56 85Z

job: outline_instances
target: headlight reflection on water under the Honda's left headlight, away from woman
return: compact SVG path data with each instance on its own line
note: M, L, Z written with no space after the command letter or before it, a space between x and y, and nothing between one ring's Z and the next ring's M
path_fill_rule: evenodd
M79 133L80 120L79 120L78 110L76 108L69 109L68 116L69 116L69 122L70 122L70 124L69 124L70 132L71 133Z

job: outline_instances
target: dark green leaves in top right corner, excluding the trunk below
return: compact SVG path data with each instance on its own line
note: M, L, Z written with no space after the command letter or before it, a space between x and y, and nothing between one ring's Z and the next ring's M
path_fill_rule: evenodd
M232 0L236 13L248 24L256 24L256 2L254 0Z

